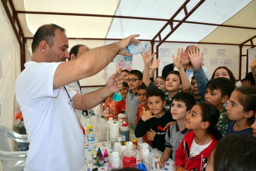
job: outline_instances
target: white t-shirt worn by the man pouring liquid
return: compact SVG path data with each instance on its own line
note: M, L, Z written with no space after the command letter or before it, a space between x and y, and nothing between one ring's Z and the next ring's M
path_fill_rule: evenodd
M84 139L63 87L53 90L59 63L26 62L15 94L30 142L24 171L85 171ZM66 87L66 86L65 86ZM72 98L76 92L69 87Z

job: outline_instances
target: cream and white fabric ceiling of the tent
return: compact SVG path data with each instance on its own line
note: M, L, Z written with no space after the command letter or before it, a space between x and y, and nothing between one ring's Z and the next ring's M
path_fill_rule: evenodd
M17 11L105 14L169 19L185 0L13 0ZM199 2L190 0L188 12ZM47 4L47 5L46 5ZM256 0L206 0L187 21L247 26L256 28ZM175 20L185 16L180 12ZM32 37L45 23L56 23L67 30L69 38L124 38L140 34L151 40L166 21L111 17L88 17L49 14L18 14L25 37ZM174 26L177 22L174 22ZM162 39L171 31L163 30ZM236 43L256 35L255 29L236 29L183 23L166 41ZM156 39L158 40L158 38ZM250 43L247 43L250 44Z

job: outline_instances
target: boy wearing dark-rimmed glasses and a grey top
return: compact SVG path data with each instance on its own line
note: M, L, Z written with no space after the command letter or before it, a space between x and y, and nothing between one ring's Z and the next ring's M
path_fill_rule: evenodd
M131 70L128 73L128 86L129 90L126 95L125 105L126 105L126 119L128 120L130 126L135 130L135 120L137 108L140 104L138 99L138 88L143 83L142 73L139 70Z

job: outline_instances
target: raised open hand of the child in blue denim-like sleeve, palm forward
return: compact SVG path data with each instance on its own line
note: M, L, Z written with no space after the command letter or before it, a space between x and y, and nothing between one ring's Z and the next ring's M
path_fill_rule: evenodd
M191 48L189 48L189 50L187 51L188 55L189 55L189 59L191 64L193 65L194 70L199 70L202 66L202 61L204 58L204 52L201 53L201 56L199 56L199 49L198 46L192 46Z

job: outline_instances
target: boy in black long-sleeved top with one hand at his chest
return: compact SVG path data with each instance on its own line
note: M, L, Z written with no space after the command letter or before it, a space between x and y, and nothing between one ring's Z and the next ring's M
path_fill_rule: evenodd
M175 121L169 112L164 111L166 101L163 91L153 88L147 92L148 109L143 109L143 114L135 129L135 136L142 137L147 134L147 139L152 141L152 147L160 151L165 149L165 134L163 128L167 123Z

